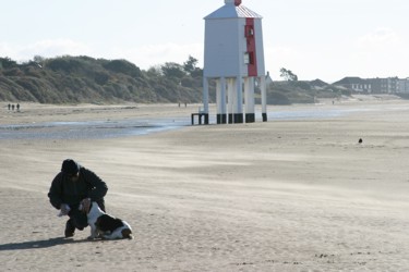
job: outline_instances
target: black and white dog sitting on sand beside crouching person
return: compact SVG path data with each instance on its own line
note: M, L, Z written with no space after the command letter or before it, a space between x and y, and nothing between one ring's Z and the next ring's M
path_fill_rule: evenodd
M91 236L88 237L91 239L98 237L105 239L133 239L130 224L105 213L95 201L91 203L87 219L91 226Z

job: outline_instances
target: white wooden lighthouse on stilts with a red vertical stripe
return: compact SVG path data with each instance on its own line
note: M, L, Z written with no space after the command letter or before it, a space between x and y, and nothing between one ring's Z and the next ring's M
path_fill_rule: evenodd
M255 84L261 89L262 118L267 121L262 16L241 0L225 0L224 7L204 20L205 120L208 123L208 85L214 79L218 124L255 121Z

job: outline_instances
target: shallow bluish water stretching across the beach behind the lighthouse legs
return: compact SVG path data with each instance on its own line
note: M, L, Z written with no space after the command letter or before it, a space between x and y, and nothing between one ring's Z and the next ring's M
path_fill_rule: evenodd
M278 120L328 119L364 109L316 109L297 111L270 111L269 122ZM215 114L214 114L215 115ZM256 112L261 122L261 112ZM216 119L210 114L209 123ZM191 125L191 118L134 119L119 121L45 122L0 125L0 139L99 139L146 135Z

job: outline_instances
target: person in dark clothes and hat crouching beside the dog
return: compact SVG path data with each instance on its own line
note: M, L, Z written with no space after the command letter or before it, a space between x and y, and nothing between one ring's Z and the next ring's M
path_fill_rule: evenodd
M62 162L61 172L51 183L48 198L60 210L60 215L69 215L65 237L74 236L75 228L83 231L88 225L87 213L92 201L96 201L105 212L104 197L107 184L91 170L71 159Z

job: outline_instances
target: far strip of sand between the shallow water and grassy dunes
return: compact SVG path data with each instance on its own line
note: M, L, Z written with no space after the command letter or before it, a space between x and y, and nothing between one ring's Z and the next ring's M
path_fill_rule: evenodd
M334 104L333 104L334 101ZM267 114L272 115L276 111L302 111L302 109L320 109L332 107L342 109L350 106L380 106L388 103L402 103L407 100L392 95L354 95L340 100L321 99L315 104L291 104L291 106L268 106ZM40 104L33 102L21 102L21 110L9 111L8 102L0 102L0 124L29 124L41 122L70 122L70 121L116 121L127 119L166 119L187 118L190 120L191 113L195 113L202 107L201 103L192 103L187 107L173 103L120 103L120 104ZM261 106L255 107L255 111L261 114ZM215 104L209 104L210 116L216 115Z

